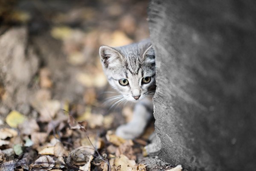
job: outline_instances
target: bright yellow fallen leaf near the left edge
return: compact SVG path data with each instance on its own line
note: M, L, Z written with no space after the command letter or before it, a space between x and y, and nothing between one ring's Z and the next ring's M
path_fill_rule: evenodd
M17 128L17 126L23 123L25 120L26 116L16 110L12 110L12 112L6 116L6 123L12 128Z

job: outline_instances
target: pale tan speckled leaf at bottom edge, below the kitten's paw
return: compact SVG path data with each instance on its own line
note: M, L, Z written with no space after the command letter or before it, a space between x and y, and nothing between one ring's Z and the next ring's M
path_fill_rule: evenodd
M136 167L135 160L130 160L123 154L120 157L116 157L114 164L118 171L132 171Z

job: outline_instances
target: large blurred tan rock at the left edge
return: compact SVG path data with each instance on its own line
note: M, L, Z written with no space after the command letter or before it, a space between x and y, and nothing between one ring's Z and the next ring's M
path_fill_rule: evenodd
M28 85L39 66L39 59L28 39L26 27L8 29L0 35L0 85L4 91L0 107L15 108L24 114L29 112L31 90Z

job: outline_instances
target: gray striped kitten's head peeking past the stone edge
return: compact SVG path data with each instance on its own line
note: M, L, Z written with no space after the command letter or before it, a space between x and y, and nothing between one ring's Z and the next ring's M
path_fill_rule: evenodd
M154 49L149 39L127 46L101 46L103 70L124 99L138 101L155 91Z

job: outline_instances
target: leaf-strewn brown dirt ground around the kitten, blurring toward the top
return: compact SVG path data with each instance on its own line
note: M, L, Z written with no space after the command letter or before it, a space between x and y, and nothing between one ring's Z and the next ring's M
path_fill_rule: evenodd
M149 37L147 0L0 1L0 171L165 171L115 129L133 104L115 104L99 46Z

